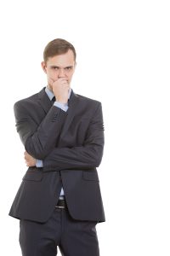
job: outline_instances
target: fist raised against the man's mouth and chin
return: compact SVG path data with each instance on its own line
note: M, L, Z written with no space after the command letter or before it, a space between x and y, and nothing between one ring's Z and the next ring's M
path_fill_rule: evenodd
M50 79L49 83L51 84L53 93L58 102L67 103L70 85L68 80L65 78L59 78L56 81Z

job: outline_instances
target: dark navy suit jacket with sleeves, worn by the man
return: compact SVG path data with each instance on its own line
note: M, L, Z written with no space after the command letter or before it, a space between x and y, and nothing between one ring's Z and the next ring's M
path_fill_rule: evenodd
M96 170L104 147L101 103L72 91L68 106L66 113L53 106L45 88L14 104L20 139L43 167L28 168L10 216L47 221L63 186L72 218L105 221Z

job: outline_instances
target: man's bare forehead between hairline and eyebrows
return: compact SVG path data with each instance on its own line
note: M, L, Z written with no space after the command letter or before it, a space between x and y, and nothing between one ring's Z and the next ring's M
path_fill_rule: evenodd
M74 54L71 49L69 49L65 54L55 55L53 57L48 57L47 65L65 67L74 65Z

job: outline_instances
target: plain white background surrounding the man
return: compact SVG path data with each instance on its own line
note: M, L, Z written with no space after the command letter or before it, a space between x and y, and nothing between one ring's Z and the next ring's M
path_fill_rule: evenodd
M99 178L106 222L97 225L100 255L170 255L168 3L1 2L2 255L21 255L19 221L8 217L26 172L13 105L46 85L42 51L54 38L77 49L73 90L103 105Z

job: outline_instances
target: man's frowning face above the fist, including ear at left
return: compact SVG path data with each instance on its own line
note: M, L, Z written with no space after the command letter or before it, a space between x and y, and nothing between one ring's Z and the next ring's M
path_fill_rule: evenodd
M63 55L49 57L47 62L42 61L42 69L47 73L49 89L52 90L52 83L58 79L66 79L68 84L71 85L75 67L76 62L71 49Z

